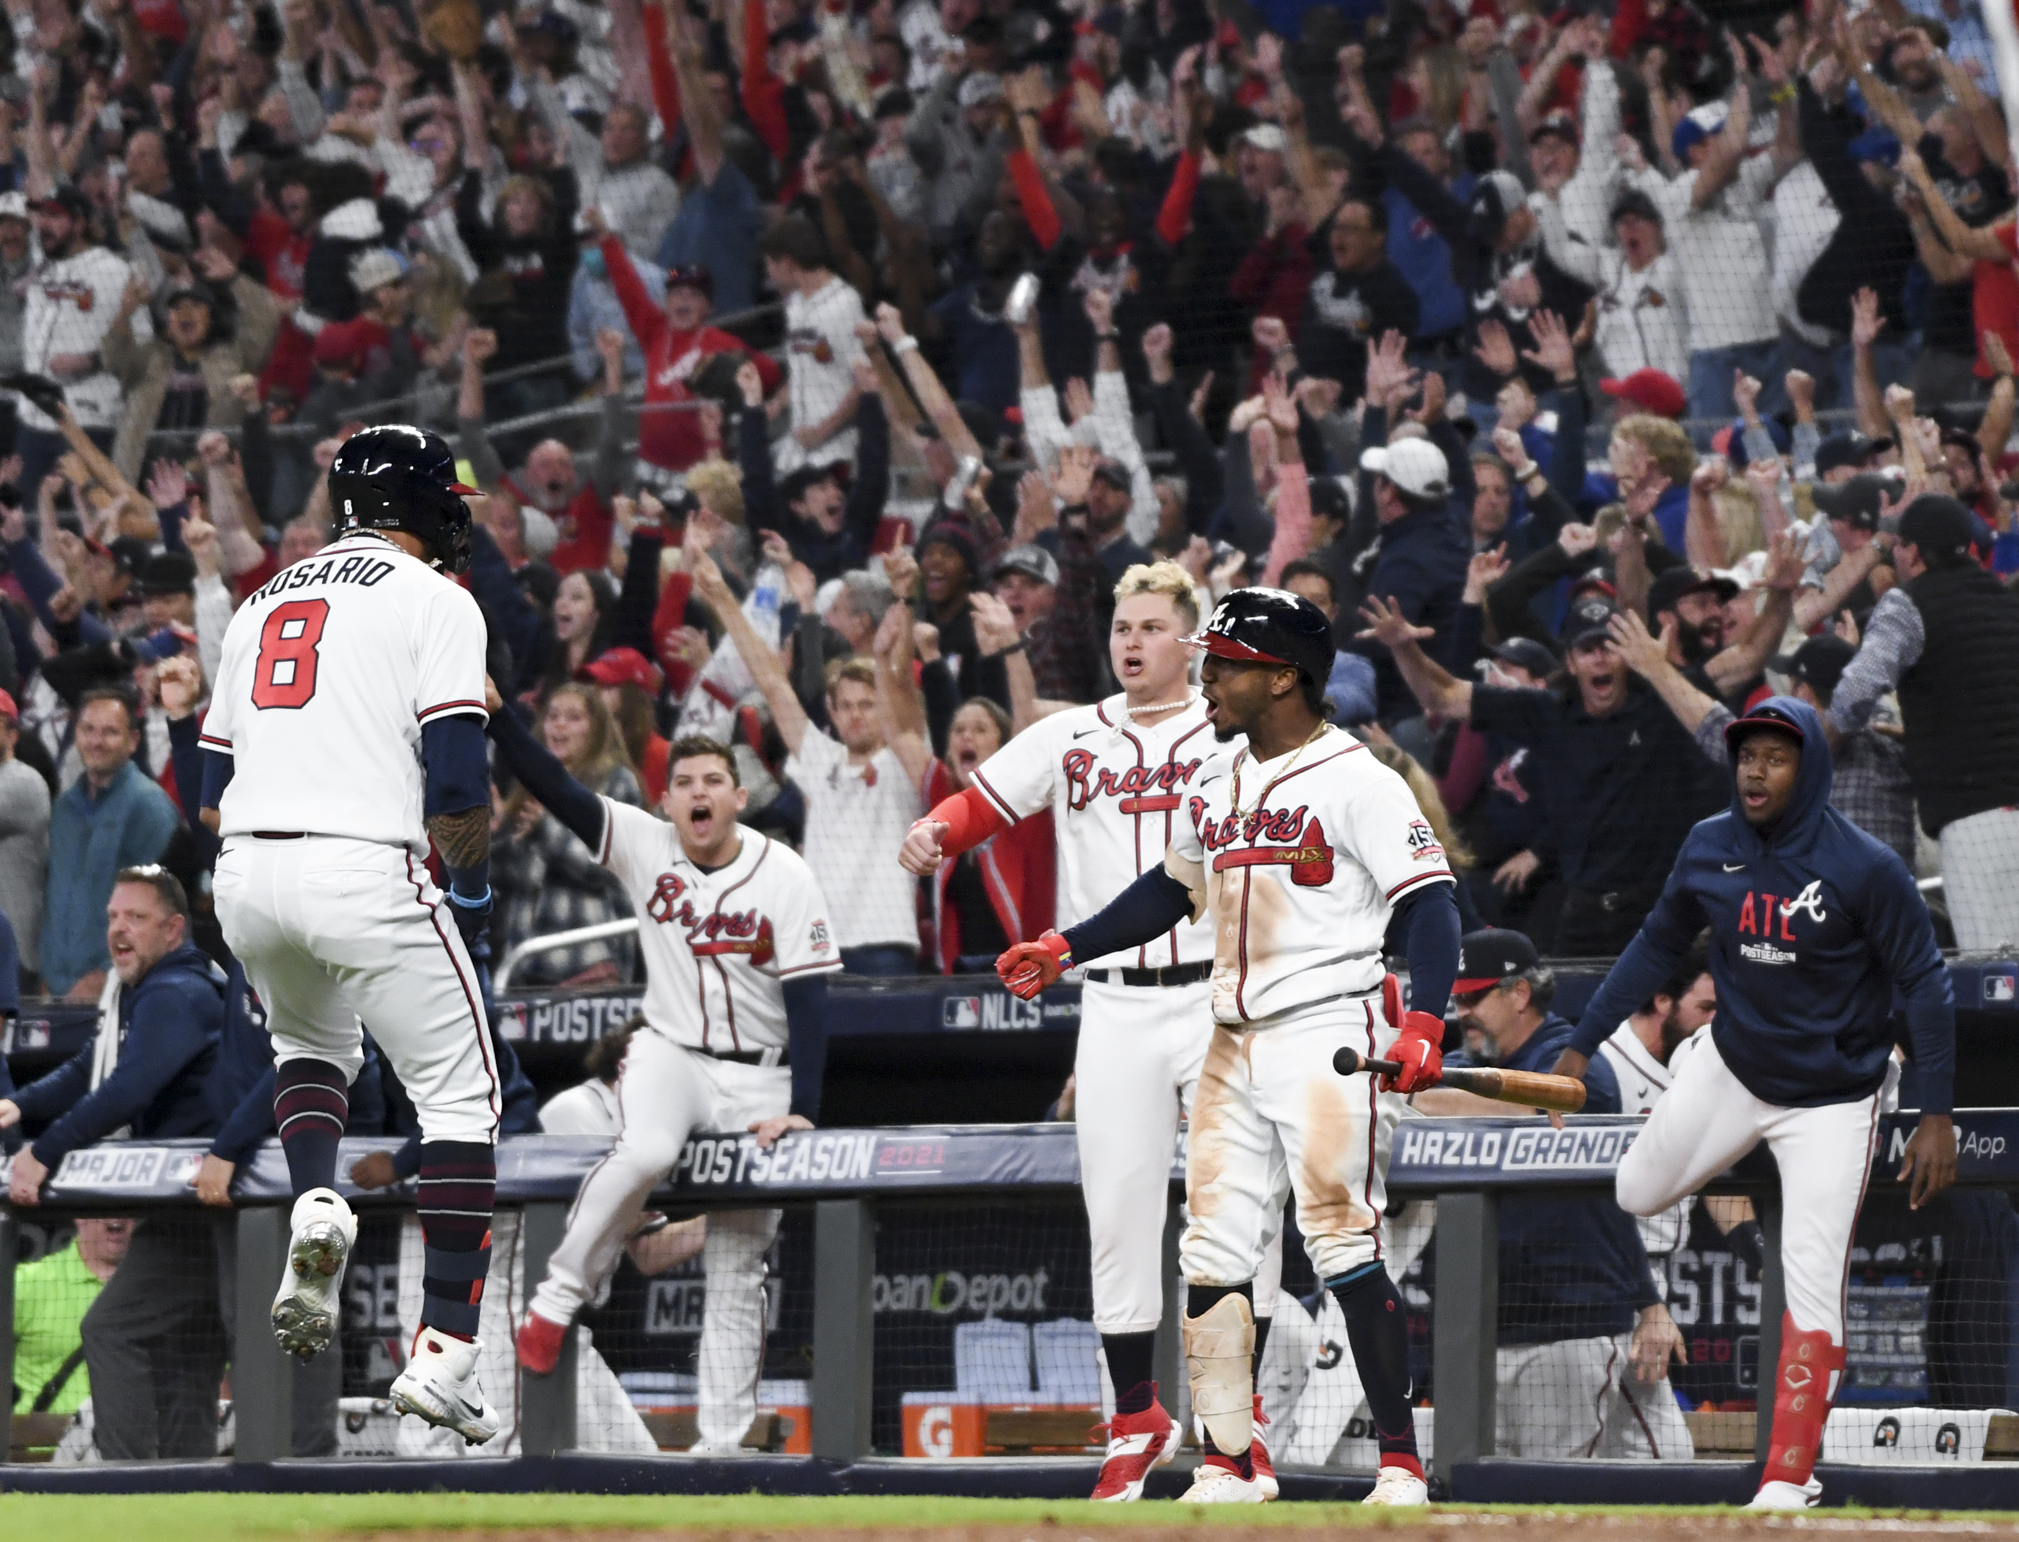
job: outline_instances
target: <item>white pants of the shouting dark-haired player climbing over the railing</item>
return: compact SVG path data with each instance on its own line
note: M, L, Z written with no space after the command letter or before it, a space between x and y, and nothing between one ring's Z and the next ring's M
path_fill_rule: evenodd
M743 1130L751 1120L791 1108L791 1070L743 1066L686 1050L650 1027L630 1041L618 1076L624 1130L581 1181L567 1233L533 1292L533 1310L549 1322L573 1322L594 1302L626 1239L638 1229L644 1201L680 1161L697 1130ZM765 1253L779 1211L709 1215L701 1249L707 1296L701 1324L699 1447L733 1451L757 1419L763 1364ZM699 1449L697 1447L697 1449Z

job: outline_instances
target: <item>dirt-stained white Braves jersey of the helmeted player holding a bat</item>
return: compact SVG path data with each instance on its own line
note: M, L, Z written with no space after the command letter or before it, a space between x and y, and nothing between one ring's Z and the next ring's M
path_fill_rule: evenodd
M1169 870L1213 918L1213 1021L1379 989L1395 906L1452 866L1409 785L1324 725L1298 749L1215 757L1185 795Z

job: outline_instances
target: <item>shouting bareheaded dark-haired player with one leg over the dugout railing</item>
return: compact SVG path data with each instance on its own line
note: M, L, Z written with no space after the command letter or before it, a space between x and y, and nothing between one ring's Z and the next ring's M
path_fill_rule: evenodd
M581 1181L519 1328L519 1364L545 1376L695 1130L749 1128L769 1148L785 1130L814 1128L820 1013L842 959L806 862L737 823L749 791L727 745L672 743L658 819L577 783L509 710L493 706L491 735L499 759L622 882L646 963L644 1027L618 1074L624 1128ZM739 1451L757 1417L763 1259L777 1223L773 1209L709 1217L697 1455Z

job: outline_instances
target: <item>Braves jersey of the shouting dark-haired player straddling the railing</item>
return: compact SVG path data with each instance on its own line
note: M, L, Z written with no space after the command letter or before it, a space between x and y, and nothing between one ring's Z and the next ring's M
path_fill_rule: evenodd
M688 1050L783 1050L783 981L842 967L814 870L747 825L737 836L733 862L701 868L670 823L604 799L598 860L638 914L644 1021Z

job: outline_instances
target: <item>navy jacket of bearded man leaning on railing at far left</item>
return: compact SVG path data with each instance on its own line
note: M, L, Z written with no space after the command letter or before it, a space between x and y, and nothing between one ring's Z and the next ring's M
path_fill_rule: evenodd
M119 1064L97 1092L91 1056L97 1033L14 1102L32 1120L55 1120L30 1146L55 1171L67 1154L131 1126L139 1140L210 1134L204 1096L224 1031L224 971L194 945L162 959L139 985L119 993Z

